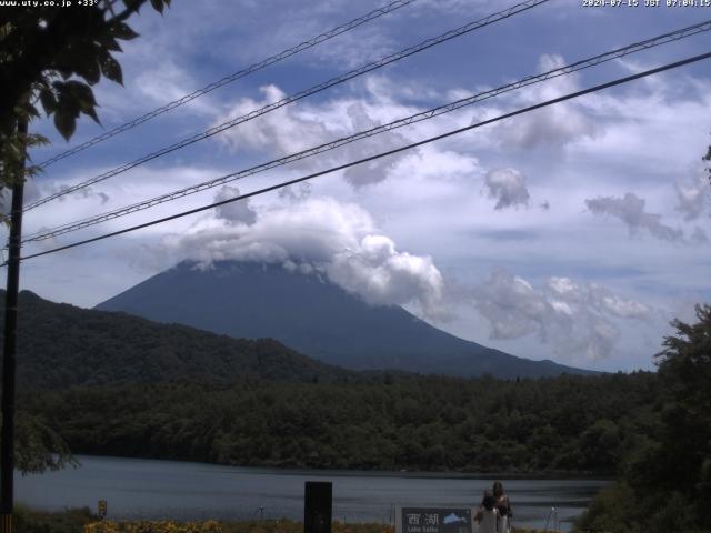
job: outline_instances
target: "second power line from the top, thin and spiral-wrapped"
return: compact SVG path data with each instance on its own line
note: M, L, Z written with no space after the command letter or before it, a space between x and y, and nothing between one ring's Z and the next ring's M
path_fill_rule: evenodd
M317 86L313 86L313 87L311 87L309 89L304 89L304 90L299 91L299 92L297 92L294 94L286 97L283 99L279 100L278 102L273 102L273 103L267 104L267 105L264 105L262 108L259 108L259 109L256 109L253 111L250 111L247 114L243 114L241 117L237 117L237 118L234 118L232 120L229 120L229 121L223 122L223 123L221 123L219 125L210 128L209 130L206 130L206 131L203 131L201 133L197 133L197 134L194 134L194 135L192 135L192 137L190 137L188 139L183 139L181 141L178 141L177 143L171 144L170 147L162 148L162 149L160 149L160 150L158 150L156 152L152 152L152 153L149 153L147 155L143 155L142 158L139 158L139 159L137 159L134 161L131 161L129 163L124 163L124 164L122 164L120 167L117 167L116 169L112 169L112 170L109 170L107 172L103 172L103 173L101 173L101 174L99 174L99 175L97 175L94 178L91 178L91 179L89 179L87 181L83 181L81 183L77 183L76 185L71 185L71 187L68 187L66 189L62 189L59 192L56 192L53 194L50 194L49 197L44 197L44 198L42 198L40 200L37 200L37 201L30 203L29 205L27 205L24 208L24 211L29 211L29 210L34 209L34 208L37 208L39 205L42 205L42 204L44 204L47 202L50 202L50 201L56 200L58 198L61 198L61 197L63 197L66 194L70 194L70 193L72 193L74 191L78 191L80 189L84 189L84 188L87 188L89 185L92 185L94 183L98 183L100 181L104 181L104 180L107 180L109 178L112 178L114 175L121 174L121 173L123 173L123 172L126 172L128 170L131 170L131 169L133 169L136 167L139 167L139 165L143 164L143 163L152 161L153 159L160 158L161 155L166 155L168 153L174 152L176 150L180 150L182 148L189 147L190 144L193 144L196 142L202 141L204 139L208 139L208 138L210 138L212 135L216 135L216 134L218 134L218 133L220 133L220 132L222 132L224 130L228 130L230 128L234 128L236 125L239 125L241 123L244 123L244 122L248 122L248 121L250 121L252 119L261 117L261 115L263 115L266 113L269 113L270 111L274 111L276 109L283 108L284 105L288 105L288 104L290 104L292 102L301 100L301 99L303 99L306 97L319 93L319 92L324 91L324 90L327 90L327 89L329 89L329 88L331 88L333 86L338 86L338 84L343 83L343 82L346 82L348 80L351 80L351 79L353 79L356 77L365 74L365 73L371 72L371 71L373 71L375 69L380 69L380 68L382 68L382 67L384 67L387 64L393 63L395 61L400 61L401 59L404 59L404 58L407 58L409 56L412 56L414 53L418 53L418 52L421 52L421 51L427 50L429 48L432 48L432 47L435 47L438 44L441 44L442 42L449 41L449 40L454 39L457 37L461 37L461 36L463 36L465 33L469 33L471 31L478 30L478 29L483 28L485 26L493 24L494 22L499 22L500 20L508 19L509 17L513 17L514 14L521 13L523 11L527 11L527 10L529 10L531 8L540 6L540 4L545 3L548 1L549 0L527 0L527 1L522 2L522 3L518 3L518 4L515 4L515 6L513 6L513 7L509 8L509 9L505 9L503 11L498 11L495 13L492 13L492 14L488 16L488 17L484 17L483 19L475 20L473 22L469 22L468 24L464 24L464 26L462 26L462 27L460 27L460 28L458 28L455 30L450 30L450 31L448 31L445 33L442 33L441 36L427 39L427 40L420 42L419 44L415 44L413 47L409 47L409 48L407 48L404 50L401 50L399 52L392 53L390 56L385 56L384 58L381 58L381 59L379 59L377 61L373 61L371 63L361 66L361 67L359 67L359 68L357 68L354 70L351 70L351 71L349 71L349 72L347 72L344 74L338 76L336 78L331 78L328 81L324 81L324 82L319 83Z

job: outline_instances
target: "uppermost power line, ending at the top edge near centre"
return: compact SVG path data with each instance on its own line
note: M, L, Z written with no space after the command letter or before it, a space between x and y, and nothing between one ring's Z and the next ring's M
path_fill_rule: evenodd
M338 26L324 33L321 33L320 36L313 37L307 41L303 41L299 44L297 44L296 47L289 48L287 50L283 50L274 56L270 56L267 59L263 59L262 61L259 61L257 63L250 64L249 67L239 70L232 74L226 76L224 78L214 81L206 87L203 87L202 89L198 89L193 92L191 92L190 94L186 94L182 98L179 98L178 100L173 100L172 102L167 103L166 105L162 105L158 109L154 109L153 111L150 111L141 117L138 117L137 119L131 120L130 122L127 122L124 124L121 124L110 131L107 131L106 133L102 133L101 135L94 137L93 139L88 140L87 142L83 142L74 148L71 148L70 150L67 150L64 152L61 152L46 161L42 161L41 163L39 163L38 167L44 169L47 167L49 167L52 163L56 163L57 161L60 161L64 158L68 158L70 155L73 155L74 153L79 153L90 147L93 147L94 144L99 144L100 142L106 141L107 139L111 139L112 137L118 135L119 133L123 133L124 131L128 131L132 128L136 128L139 124L142 124L143 122L148 122L149 120L154 119L156 117L159 117L163 113L167 113L168 111L176 109L180 105L183 105L192 100L194 100L196 98L199 98L203 94L207 94L208 92L214 91L216 89L219 89L222 86L227 86L228 83L232 83L233 81L239 80L240 78L244 78L246 76L249 76L253 72L257 72L258 70L262 70L271 64L278 63L279 61L282 61L291 56L294 56L299 52L302 52L304 50L308 50L309 48L313 48L317 44L320 44L324 41L328 41L329 39L332 39L337 36L340 36L341 33L346 33L347 31L352 30L353 28L357 28L361 24L364 24L365 22L370 22L371 20L374 20L379 17L382 17L383 14L388 14L391 13L392 11L395 11L400 8L403 8L412 2L415 2L418 0L395 0L393 2L390 2L387 6L383 6L381 8L374 9L365 14L363 14L362 17L358 17L357 19L353 19L349 22L346 22L344 24Z

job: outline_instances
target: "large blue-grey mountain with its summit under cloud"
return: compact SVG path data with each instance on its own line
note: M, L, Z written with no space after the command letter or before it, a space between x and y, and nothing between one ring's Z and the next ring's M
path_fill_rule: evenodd
M497 378L587 373L531 361L445 333L404 309L371 306L318 274L254 262L182 262L99 304L233 338L273 338L349 369Z

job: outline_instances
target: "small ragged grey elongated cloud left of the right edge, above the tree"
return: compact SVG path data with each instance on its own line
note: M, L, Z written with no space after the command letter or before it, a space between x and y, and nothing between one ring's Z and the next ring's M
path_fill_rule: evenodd
M624 222L631 234L647 230L658 239L679 242L683 240L680 229L671 228L661 222L661 215L644 211L645 201L632 192L623 198L598 197L585 200L588 209L593 214L609 214Z

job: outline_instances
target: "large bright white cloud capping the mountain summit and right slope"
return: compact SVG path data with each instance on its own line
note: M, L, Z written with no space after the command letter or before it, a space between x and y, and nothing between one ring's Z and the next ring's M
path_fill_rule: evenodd
M428 318L447 316L444 282L432 259L399 251L353 203L307 198L260 211L251 225L203 219L164 244L202 265L237 260L318 272L372 305L412 303Z

